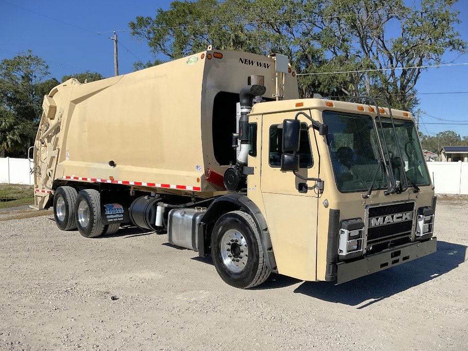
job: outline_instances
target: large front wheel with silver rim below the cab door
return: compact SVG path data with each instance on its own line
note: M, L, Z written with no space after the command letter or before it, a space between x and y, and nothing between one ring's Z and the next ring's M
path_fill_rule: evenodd
M254 219L245 212L229 212L218 219L211 253L219 276L235 288L257 286L271 273Z

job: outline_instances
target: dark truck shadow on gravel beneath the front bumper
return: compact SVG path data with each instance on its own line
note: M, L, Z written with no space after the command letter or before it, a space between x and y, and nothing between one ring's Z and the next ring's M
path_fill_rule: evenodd
M366 308L398 292L448 273L466 261L467 246L438 241L437 252L341 285L304 282L294 292L320 300ZM372 301L369 301L372 300Z

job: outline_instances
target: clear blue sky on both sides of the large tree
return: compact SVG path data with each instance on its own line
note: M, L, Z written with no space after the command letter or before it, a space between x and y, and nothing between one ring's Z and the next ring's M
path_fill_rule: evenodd
M170 3L170 0L0 0L0 60L31 49L47 60L51 77L59 80L64 75L86 70L111 77L114 75L114 41L109 37L116 30L119 42L125 47L120 46L118 50L119 74L133 72L135 61L146 62L153 57L145 42L130 35L128 22L137 16L154 17L158 8L166 10ZM456 29L461 38L468 41L468 0L460 0L455 8L460 11L462 21ZM467 54L457 56L447 54L444 60L468 63ZM419 107L425 112L421 114L420 123L423 133L433 135L454 130L462 137L468 136L468 93L460 93L468 92L468 64L429 68L421 74L416 88L419 93L456 93L419 95Z

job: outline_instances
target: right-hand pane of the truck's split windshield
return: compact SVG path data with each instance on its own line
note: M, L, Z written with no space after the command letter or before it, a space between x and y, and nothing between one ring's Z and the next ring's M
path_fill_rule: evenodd
M429 185L429 174L413 121L393 118L393 122L395 124L396 135L398 136L398 144L391 127L390 118L382 118L382 126L389 146L395 179L402 180L400 173L402 169L401 165L403 164L405 174L409 180L409 186L411 186L411 181L416 185ZM379 123L377 123L377 126L380 129ZM400 160L397 145L400 146L402 160Z

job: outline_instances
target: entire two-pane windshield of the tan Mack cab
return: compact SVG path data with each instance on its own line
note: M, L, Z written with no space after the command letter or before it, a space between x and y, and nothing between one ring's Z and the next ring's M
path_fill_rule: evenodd
M385 167L383 165L379 167L378 162L381 154L373 117L324 111L323 121L329 128L328 147L338 190L341 192L367 191L374 176L373 189L387 188ZM403 164L405 174L410 181L416 185L428 185L429 174L414 123L399 119L393 119L393 121L398 143L390 119L382 118L395 179L402 179L400 172ZM380 130L380 126L378 128ZM403 160L400 160L397 145L400 146ZM409 186L411 186L410 181Z

